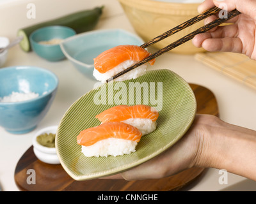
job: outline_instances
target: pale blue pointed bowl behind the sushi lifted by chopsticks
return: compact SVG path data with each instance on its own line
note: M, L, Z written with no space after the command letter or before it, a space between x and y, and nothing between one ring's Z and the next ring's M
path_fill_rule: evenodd
M118 45L142 45L144 41L122 29L104 29L77 34L64 40L61 50L67 59L86 77L93 77L93 58Z

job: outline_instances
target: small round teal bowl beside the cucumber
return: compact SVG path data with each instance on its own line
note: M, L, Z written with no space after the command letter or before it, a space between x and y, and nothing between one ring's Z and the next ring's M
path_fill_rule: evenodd
M65 59L65 55L61 51L60 43L43 44L42 41L52 41L54 39L64 40L70 36L74 36L76 31L70 27L53 25L37 29L29 36L29 41L33 51L47 61L61 61Z

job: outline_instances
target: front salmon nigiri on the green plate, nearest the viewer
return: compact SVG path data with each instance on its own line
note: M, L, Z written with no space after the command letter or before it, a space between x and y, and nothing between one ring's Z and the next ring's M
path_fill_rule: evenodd
M106 122L81 131L77 144L82 145L86 157L121 156L135 152L141 135L137 128L129 124Z

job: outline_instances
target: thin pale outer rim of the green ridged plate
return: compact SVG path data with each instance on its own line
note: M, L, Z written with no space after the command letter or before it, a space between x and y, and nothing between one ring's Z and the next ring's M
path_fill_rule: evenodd
M158 69L159 70L159 69ZM173 71L171 71L170 69L161 69L161 70L167 70L172 72L174 75L177 75L176 73L174 73ZM156 70L151 70L151 71L156 71ZM129 170L131 168L134 168L135 166L138 166L142 163L147 162L150 159L153 159L156 156L159 156L159 154L162 154L164 151L168 150L170 147L172 147L173 145L175 145L175 143L177 143L182 136L184 136L186 134L186 132L188 131L188 129L191 127L191 125L193 124L193 121L195 120L195 115L196 115L196 98L195 98L195 93L193 92L193 90L191 89L191 87L189 86L188 82L186 82L186 80L184 80L184 78L180 77L179 75L177 75L177 77L179 77L189 88L191 94L193 95L193 102L195 105L195 109L193 110L193 115L191 115L191 118L189 120L189 122L187 123L187 126L183 129L183 131L177 135L172 142L169 142L167 145L164 145L161 149L158 149L156 151L154 151L152 154L149 154L148 156L143 157L142 159L138 159L132 163L127 163L127 164L123 164L122 166L117 166L116 168L111 168L109 170L104 170L104 171L99 171L99 172L93 172L93 173L88 173L86 175L76 175L72 172L72 170L70 170L68 168L68 166L66 166L66 164L64 163L64 161L62 160L61 156L60 156L60 152L59 152L59 148L58 148L58 131L60 126L58 126L58 130L56 133L56 152L57 155L60 159L60 164L63 167L63 169L68 173L68 175L70 175L70 177L72 177L72 179L77 180L77 181L83 181L83 180L92 180L92 179L99 179L102 177L107 177L107 176L111 176L111 175L115 175L117 173L122 173L126 170ZM65 115L67 115L68 111L72 108L72 106L74 104L77 103L77 101L79 101L81 98L85 97L86 95L90 94L90 92L95 91L99 89L99 87L96 87L95 89L92 89L88 92L86 92L86 94L84 94L83 96L81 96L80 98L78 98L76 101L74 101L74 103L72 105L70 105L70 107L67 109L67 111L64 113L61 121L65 118Z

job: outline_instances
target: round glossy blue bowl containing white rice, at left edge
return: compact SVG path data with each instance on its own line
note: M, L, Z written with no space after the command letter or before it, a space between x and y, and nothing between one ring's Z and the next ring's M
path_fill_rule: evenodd
M36 128L45 117L58 88L58 78L43 68L17 66L0 69L0 98L12 92L35 92L37 98L3 103L0 101L0 126L13 134Z

